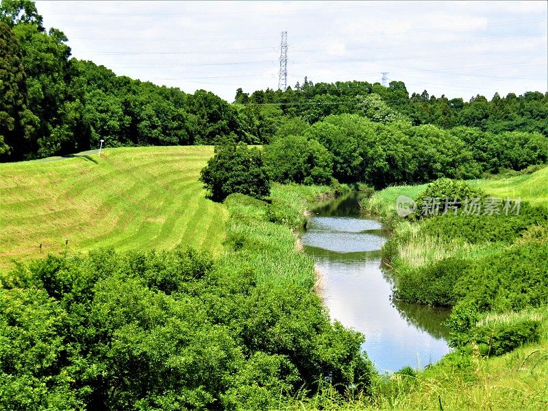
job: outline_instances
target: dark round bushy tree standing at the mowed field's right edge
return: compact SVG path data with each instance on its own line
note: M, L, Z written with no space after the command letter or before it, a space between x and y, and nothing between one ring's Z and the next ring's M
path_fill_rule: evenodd
M257 198L270 194L270 178L261 151L248 149L243 142L216 146L215 155L200 174L200 181L214 201L223 201L233 192Z

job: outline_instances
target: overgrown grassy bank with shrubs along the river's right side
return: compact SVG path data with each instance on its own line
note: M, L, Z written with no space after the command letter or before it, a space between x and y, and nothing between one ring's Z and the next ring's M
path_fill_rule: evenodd
M534 206L545 206L548 169L469 184L488 195L516 195ZM449 217L406 221L397 216L397 197L417 199L425 188L386 188L363 205L392 226L394 236L386 244L384 258L395 270L399 296L424 303L457 303L453 340L458 350L425 371L410 370L409 376L381 382L373 405L395 410L545 410L548 239L543 212L531 212L525 206L522 217L512 225L482 220L481 229L470 231L478 240L471 240L471 236L462 236L466 226L449 229ZM493 229L499 232L489 237ZM514 232L516 229L519 231ZM482 242L482 236L488 240ZM464 273L471 273L471 277ZM471 287L462 285L471 279ZM456 290L464 291L453 294ZM371 407L369 401L358 399L344 409ZM327 408L343 406L334 403Z

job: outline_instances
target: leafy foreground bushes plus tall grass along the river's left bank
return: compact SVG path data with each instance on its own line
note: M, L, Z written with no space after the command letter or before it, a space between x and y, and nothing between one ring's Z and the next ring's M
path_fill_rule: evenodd
M363 336L330 321L291 232L325 190L229 196L216 260L101 249L4 273L1 408L264 409L323 384L369 395Z

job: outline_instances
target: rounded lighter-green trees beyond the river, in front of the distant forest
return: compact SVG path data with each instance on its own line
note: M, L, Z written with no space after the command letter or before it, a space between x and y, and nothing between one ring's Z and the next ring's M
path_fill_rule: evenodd
M290 135L284 136L286 131ZM277 182L328 184L334 178L384 188L543 164L548 160L548 139L536 132L493 134L476 127L443 129L339 114L313 125L289 121L264 147L264 157Z

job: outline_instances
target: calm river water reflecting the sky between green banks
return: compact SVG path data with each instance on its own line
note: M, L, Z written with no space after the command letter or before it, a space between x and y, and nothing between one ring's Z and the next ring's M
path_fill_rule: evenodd
M359 215L358 195L327 201L313 210L302 234L306 252L324 277L321 297L333 319L366 336L363 349L379 371L438 361L449 352L449 312L394 303L390 275L381 268L386 233Z

